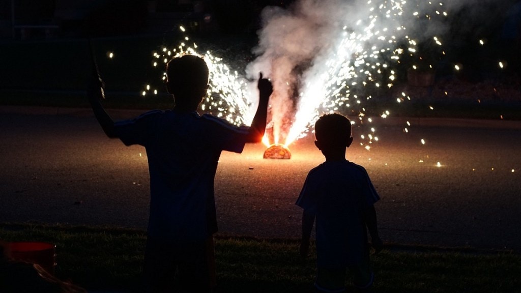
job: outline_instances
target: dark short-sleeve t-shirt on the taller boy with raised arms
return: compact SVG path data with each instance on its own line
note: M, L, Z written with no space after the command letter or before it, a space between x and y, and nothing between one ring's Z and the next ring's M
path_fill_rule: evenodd
M146 149L148 236L190 242L217 231L214 177L222 150L242 152L247 127L196 112L151 111L115 124L126 145Z

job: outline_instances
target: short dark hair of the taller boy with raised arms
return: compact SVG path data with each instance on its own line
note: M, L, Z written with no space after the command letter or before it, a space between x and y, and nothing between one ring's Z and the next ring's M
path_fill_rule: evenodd
M203 58L196 55L172 58L167 64L166 74L175 91L189 93L208 85L208 66Z

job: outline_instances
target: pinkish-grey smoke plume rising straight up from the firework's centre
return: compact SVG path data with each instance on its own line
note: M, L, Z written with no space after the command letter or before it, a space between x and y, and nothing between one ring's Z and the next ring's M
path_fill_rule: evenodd
M250 76L263 71L274 82L271 119L275 143L286 138L299 102L301 78L313 67L341 30L338 19L349 16L345 2L303 0L290 9L267 7L259 32L259 55L247 68ZM283 143L283 141L282 141Z

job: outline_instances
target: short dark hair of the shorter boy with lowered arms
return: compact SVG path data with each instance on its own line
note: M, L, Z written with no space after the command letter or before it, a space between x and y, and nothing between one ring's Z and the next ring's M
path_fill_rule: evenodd
M324 114L315 123L315 138L321 143L342 143L345 136L351 137L351 121L342 114Z

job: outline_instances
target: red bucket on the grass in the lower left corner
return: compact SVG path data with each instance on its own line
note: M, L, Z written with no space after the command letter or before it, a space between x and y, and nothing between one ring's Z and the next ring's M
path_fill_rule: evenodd
M54 275L56 266L56 245L47 242L10 242L8 256L16 261L40 265L47 273Z

